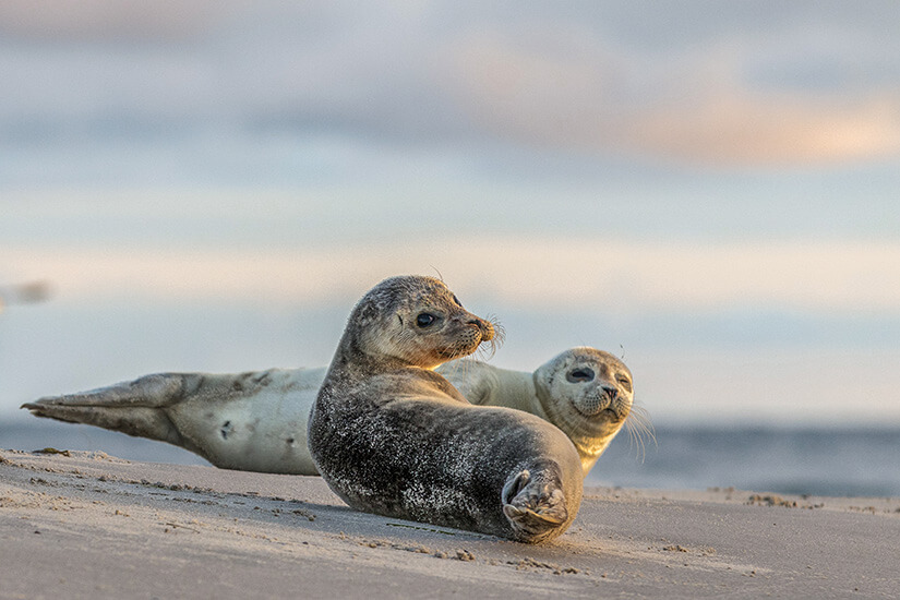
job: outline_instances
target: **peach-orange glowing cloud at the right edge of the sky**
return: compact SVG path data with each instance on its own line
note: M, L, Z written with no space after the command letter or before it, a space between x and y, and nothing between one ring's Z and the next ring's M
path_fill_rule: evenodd
M797 165L900 154L900 96L857 101L749 91L710 93L635 116L623 146L713 165Z

